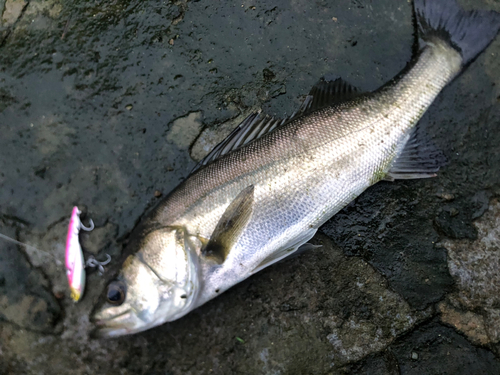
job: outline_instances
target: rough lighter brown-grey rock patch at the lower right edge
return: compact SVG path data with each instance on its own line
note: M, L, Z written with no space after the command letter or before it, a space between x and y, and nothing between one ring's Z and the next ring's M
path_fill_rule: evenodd
M500 341L500 202L474 222L477 240L443 241L458 291L443 303L443 322L480 344ZM465 310L465 312L461 311Z

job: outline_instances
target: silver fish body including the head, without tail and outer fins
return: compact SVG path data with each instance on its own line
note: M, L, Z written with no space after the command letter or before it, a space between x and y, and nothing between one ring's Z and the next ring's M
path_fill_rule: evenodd
M425 13L430 5L418 2ZM100 334L178 319L297 251L385 178L423 113L468 63L452 43L432 35L426 42L406 73L376 92L296 116L189 176L137 229L133 255L96 313ZM233 207L242 192L249 199ZM221 240L218 259L204 248L225 215L228 231L238 230ZM126 296L109 298L110 290Z

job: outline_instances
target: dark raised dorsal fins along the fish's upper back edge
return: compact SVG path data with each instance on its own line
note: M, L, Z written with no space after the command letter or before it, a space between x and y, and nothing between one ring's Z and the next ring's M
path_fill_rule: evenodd
M259 112L254 112L245 118L221 143L203 158L191 171L207 165L215 159L246 145L264 134L272 132L277 127L288 123L296 117L305 115L328 105L339 104L359 96L360 92L341 78L327 81L321 78L311 89L299 109L290 117L281 119Z

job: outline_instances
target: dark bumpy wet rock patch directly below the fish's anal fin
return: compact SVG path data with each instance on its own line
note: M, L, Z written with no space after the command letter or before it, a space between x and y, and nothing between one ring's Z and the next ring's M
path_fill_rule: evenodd
M446 252L429 216L435 181L380 183L320 229L346 254L361 256L413 307L423 309L452 290ZM416 190L416 185L422 185Z

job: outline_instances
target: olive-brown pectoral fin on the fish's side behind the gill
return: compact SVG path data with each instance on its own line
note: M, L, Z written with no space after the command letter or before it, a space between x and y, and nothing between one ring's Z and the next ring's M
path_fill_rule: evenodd
M227 255L250 221L253 212L254 186L242 190L227 207L201 253L218 264L224 263Z

